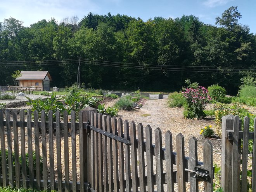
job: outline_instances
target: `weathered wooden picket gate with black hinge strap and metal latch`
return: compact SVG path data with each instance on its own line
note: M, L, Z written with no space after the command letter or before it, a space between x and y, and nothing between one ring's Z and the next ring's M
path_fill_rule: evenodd
M85 113L88 134L88 183L92 191L213 191L213 147L204 143L204 163L197 161L197 140L189 140L189 156L185 157L184 137L176 136L176 150L170 131L162 144L159 128L123 122L98 113ZM144 139L145 138L145 139ZM154 141L153 139L154 138ZM153 144L154 142L154 144ZM190 183L190 187L186 182ZM190 188L190 189L189 189Z

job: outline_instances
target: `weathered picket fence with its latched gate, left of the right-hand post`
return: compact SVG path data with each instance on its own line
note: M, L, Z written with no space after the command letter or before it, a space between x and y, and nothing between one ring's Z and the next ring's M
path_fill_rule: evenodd
M136 127L133 121L123 122L121 118L91 111L80 111L78 122L74 111L71 112L71 122L68 122L66 111L62 117L59 111L55 114L50 111L48 121L44 111L41 112L41 121L37 111L33 113L33 121L31 116L30 110L26 116L23 110L19 113L0 110L0 184L4 187L58 191L185 192L186 182L189 182L190 191L196 192L199 182L204 181L204 191L213 191L213 147L208 140L203 146L202 163L197 161L197 140L194 137L189 140L189 157L185 157L181 133L176 136L177 151L173 152L170 131L164 135L163 148L161 130L157 128L154 131L153 144L152 128L147 126L144 129L141 123ZM79 137L79 147L76 137Z

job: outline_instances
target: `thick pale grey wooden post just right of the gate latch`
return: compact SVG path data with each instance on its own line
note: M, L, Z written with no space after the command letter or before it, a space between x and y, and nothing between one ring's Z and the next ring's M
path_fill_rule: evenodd
M226 138L226 130L233 130L234 115L222 117L221 143L221 187L224 192L232 191L232 147L233 141Z

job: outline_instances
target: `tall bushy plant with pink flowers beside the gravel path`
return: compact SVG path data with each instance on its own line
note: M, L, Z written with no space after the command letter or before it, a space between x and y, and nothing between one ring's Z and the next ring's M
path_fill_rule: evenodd
M203 110L211 100L208 90L203 86L198 86L198 88L185 88L182 93L186 100L183 112L185 118L198 119L206 117Z

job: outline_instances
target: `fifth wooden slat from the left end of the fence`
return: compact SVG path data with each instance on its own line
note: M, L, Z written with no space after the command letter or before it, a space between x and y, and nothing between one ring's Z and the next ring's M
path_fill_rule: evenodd
M32 146L32 126L31 126L31 110L27 112L28 121L28 172L29 172L29 187L33 189L34 186L34 167L33 167L33 146Z

